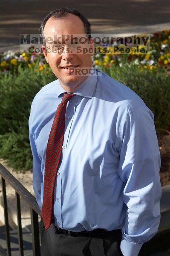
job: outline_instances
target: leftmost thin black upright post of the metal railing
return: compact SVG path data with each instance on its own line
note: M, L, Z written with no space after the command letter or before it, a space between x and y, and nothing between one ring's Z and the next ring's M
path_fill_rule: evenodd
M10 236L9 236L9 221L8 221L8 208L7 208L7 200L6 200L6 184L5 184L5 180L4 180L3 177L2 177L2 190L3 190L3 207L4 207L4 218L5 218L7 253L8 253L8 256L11 256L11 245L10 245Z

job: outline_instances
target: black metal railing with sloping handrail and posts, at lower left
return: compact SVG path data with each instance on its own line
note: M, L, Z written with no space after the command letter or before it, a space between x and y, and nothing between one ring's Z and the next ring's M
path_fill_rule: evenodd
M32 229L32 250L33 256L40 256L40 239L39 239L39 224L38 215L41 216L40 208L37 205L35 197L2 165L0 164L0 176L2 179L2 192L3 192L3 207L5 218L6 230L6 251L0 246L0 255L11 256L10 233L9 233L9 220L8 220L8 207L6 198L6 181L14 188L17 209L17 227L18 227L18 241L19 241L19 255L23 256L23 235L21 225L21 211L20 211L20 196L26 201L30 207L31 214L31 229Z

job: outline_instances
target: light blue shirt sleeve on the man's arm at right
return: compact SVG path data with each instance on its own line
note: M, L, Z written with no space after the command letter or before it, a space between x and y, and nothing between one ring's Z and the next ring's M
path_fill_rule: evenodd
M127 206L120 247L124 256L137 256L160 222L161 161L153 113L146 107L131 109L119 131L118 173Z

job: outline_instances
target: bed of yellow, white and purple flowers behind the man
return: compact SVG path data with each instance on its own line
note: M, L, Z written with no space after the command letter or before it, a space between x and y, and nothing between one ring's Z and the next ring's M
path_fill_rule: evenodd
M162 32L157 32L151 34L150 37L150 52L135 53L131 51L129 54L124 53L112 53L114 52L115 46L108 46L107 51L109 53L99 54L95 53L92 58L92 63L94 67L107 67L112 65L122 66L124 63L131 65L137 65L137 67L143 71L144 69L149 69L152 71L166 70L170 72L170 29L163 30ZM123 44L121 47L125 47ZM102 47L100 47L102 49ZM131 50L136 47L132 47ZM96 48L97 49L97 48ZM17 72L18 67L29 67L34 68L35 72L41 71L48 74L48 64L46 64L45 58L42 54L28 54L23 52L22 54L15 54L12 51L7 52L6 55L0 56L0 73L13 74Z

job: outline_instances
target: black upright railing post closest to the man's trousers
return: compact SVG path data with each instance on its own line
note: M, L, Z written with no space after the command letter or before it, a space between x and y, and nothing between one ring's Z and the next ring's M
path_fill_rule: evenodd
M32 250L33 256L40 256L40 239L39 239L39 225L38 215L32 207L31 211L31 230L32 230Z

